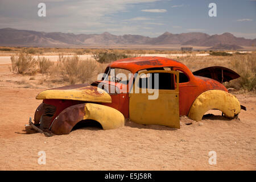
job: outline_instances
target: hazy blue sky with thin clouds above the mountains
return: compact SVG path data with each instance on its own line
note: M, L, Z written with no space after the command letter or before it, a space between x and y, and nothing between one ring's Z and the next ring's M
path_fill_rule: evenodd
M46 17L38 4L46 3ZM217 17L210 17L216 3ZM0 0L0 28L156 37L205 32L256 38L256 0Z

